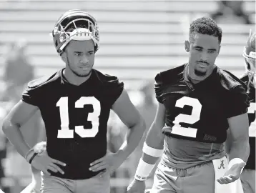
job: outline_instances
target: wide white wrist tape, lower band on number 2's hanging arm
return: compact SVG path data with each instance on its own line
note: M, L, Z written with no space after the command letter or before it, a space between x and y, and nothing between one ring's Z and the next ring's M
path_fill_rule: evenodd
M144 162L142 158L139 159L139 164L134 178L139 181L145 181L153 168L154 164L148 164L147 162Z

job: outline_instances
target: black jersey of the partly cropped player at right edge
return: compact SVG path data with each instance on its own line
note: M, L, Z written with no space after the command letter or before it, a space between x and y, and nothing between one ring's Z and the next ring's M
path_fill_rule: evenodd
M248 84L248 75L242 76L241 80ZM250 107L248 109L249 118L249 142L250 142L250 156L245 166L246 169L255 169L255 134L256 134L256 123L255 123L255 80L252 80L249 85L249 98Z

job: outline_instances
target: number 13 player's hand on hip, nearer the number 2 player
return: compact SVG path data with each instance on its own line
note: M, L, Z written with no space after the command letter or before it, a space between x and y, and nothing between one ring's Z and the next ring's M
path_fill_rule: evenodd
M89 170L98 172L102 169L106 169L109 171L109 174L111 174L122 164L122 162L124 162L124 158L121 154L107 151L107 154L104 157L97 159L90 164L91 167Z

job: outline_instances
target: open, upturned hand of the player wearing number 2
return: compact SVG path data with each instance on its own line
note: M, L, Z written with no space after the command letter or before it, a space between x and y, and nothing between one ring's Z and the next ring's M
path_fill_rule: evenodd
M242 168L245 167L245 162L234 164L230 169L225 172L223 177L217 179L220 184L229 184L235 182L241 174Z

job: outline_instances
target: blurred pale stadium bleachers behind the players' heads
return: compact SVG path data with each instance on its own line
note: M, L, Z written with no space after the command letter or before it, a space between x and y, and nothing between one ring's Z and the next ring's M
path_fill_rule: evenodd
M88 11L98 20L101 36L95 68L119 76L135 90L157 72L186 62L184 29L189 23L184 20L217 9L215 1L1 1L0 5L2 43L26 39L37 76L64 66L49 36L56 19L68 9ZM246 1L244 9L253 18L255 1ZM240 75L243 46L255 25L220 26L223 40L217 64Z

